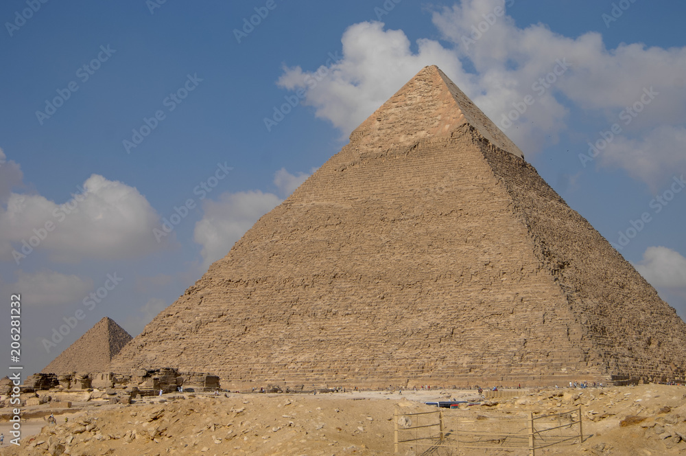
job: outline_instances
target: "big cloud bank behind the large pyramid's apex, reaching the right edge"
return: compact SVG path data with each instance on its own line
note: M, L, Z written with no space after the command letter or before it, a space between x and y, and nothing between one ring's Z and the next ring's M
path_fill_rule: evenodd
M554 144L561 133L588 135L569 131L571 107L603 117L606 123L598 130L607 129L622 110L639 102L644 89L652 88L658 95L650 106L632 117L630 125L622 124L635 147L624 144L629 139L617 141L606 164L656 185L660 172L637 172L635 161L617 155L623 150L637 154L635 148L647 143L658 127L672 128L673 137L683 130L686 47L622 43L607 49L595 32L569 38L541 24L521 28L498 9L511 3L463 0L434 10L434 25L451 46L422 38L416 52L401 30L385 30L380 22L352 25L342 36L340 60L315 71L285 67L277 83L284 89L305 89L304 104L348 134L422 67L438 65L528 157ZM534 103L523 114L514 113L517 119L508 126L504 115L522 106L527 95ZM597 130L589 140L595 135ZM651 168L669 168L674 161L664 150L642 153L651 157Z

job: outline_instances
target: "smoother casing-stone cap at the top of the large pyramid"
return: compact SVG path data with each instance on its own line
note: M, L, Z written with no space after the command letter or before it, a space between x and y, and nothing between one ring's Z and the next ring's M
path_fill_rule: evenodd
M493 146L523 158L521 150L436 65L421 69L407 84L351 133L351 143L383 148L394 142L416 144L449 137L463 124L475 128Z

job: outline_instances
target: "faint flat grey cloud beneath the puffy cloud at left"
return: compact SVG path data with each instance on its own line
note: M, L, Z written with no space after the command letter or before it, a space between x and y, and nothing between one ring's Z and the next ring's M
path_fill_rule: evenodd
M55 271L25 273L19 271L12 290L19 290L22 302L31 306L59 306L79 303L92 291L93 281L78 275Z

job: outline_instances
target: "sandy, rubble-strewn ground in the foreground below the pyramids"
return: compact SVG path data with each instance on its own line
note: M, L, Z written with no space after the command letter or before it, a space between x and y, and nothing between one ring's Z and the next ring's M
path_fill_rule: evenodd
M581 405L584 442L546 448L537 455L686 454L686 387L565 388L517 394L469 406L469 413L550 413ZM70 411L66 424L64 415L56 415L56 425L30 418L23 423L21 447L8 445L8 422L3 419L0 431L5 433L5 444L0 455L391 455L394 409L435 410L421 402L470 397L475 397L474 391L405 391L402 396L397 392L167 394L139 398L134 404ZM29 436L32 426L42 430ZM401 454L416 453L401 448Z

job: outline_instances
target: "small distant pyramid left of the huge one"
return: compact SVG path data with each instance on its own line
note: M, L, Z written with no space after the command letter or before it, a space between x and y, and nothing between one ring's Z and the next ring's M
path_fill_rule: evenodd
M113 319L104 317L45 366L43 373L108 372L113 356L131 339Z

